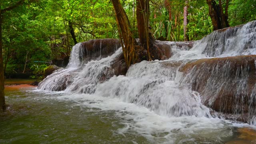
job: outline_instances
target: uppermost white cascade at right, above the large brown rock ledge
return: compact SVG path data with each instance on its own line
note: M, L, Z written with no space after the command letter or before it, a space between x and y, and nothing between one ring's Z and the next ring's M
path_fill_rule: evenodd
M243 26L216 30L194 44L190 50L177 50L174 47L175 59L200 59L210 57L228 57L256 54L256 21ZM184 48L187 49L187 48Z

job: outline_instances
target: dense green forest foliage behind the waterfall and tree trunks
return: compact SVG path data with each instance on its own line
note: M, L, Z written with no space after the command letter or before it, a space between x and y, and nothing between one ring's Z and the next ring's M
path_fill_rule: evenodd
M149 25L158 40L199 40L214 29L208 2L212 0L150 0ZM18 0L1 0L1 10ZM256 19L255 0L213 0L229 26ZM121 0L138 38L136 1ZM187 19L186 19L187 18ZM4 73L26 73L33 66L69 56L78 42L119 38L109 0L25 0L2 13ZM184 24L186 30L184 29ZM185 32L185 33L184 33Z

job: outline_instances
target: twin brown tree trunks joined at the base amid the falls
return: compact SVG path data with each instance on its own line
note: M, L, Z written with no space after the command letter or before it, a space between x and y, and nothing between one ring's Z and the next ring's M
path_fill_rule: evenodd
M155 39L148 26L149 0L136 0L140 44L134 38L129 19L120 4L120 0L111 1L115 9L118 33L127 66L142 60L160 60L163 56L162 51L154 44Z

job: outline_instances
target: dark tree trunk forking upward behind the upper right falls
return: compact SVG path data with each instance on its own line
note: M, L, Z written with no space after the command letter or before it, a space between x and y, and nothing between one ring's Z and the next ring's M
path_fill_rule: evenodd
M209 15L212 20L214 30L229 27L228 24L228 0L226 0L225 14L222 8L222 2L219 0L219 4L215 0L206 0L209 7Z

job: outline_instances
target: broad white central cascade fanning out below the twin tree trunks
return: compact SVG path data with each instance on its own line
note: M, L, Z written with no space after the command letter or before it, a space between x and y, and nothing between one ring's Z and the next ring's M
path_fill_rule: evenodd
M175 81L179 63L174 62L170 68L165 64L164 61L134 64L126 76L113 77L100 84L96 94L145 106L164 116L210 117L198 92L180 87Z

